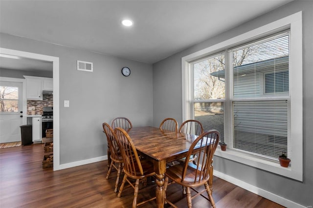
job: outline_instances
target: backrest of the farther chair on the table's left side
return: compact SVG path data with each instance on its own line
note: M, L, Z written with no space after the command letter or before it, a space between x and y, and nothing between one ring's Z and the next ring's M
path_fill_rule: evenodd
M118 157L118 152L119 152L119 146L117 143L117 139L114 133L114 130L112 129L112 127L107 124L107 123L103 123L102 124L104 133L107 136L107 140L108 140L108 145L111 151L111 157L115 160L119 160Z

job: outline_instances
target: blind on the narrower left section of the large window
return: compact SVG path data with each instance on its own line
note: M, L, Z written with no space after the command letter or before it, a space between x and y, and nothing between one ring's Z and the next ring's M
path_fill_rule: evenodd
M192 63L193 105L195 120L204 131L216 129L224 140L225 54L220 53ZM213 76L218 74L218 76Z

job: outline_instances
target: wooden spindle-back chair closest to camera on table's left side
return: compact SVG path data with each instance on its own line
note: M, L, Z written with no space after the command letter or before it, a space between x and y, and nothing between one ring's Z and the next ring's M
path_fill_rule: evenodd
M153 163L151 163L148 160L139 159L134 143L124 129L117 127L114 129L114 132L116 138L118 139L118 144L124 159L123 170L125 173L117 197L121 197L124 184L127 181L134 188L133 208L156 199L156 197L153 197L149 200L137 204L137 196L139 192L139 180L141 179L146 180L147 177L156 174L154 172ZM128 177L136 180L134 185L128 180Z

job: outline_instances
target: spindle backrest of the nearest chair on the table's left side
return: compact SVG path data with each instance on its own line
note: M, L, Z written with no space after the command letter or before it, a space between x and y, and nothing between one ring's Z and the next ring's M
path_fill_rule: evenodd
M143 169L132 139L120 127L116 127L114 132L124 160L124 171L133 176L143 176Z

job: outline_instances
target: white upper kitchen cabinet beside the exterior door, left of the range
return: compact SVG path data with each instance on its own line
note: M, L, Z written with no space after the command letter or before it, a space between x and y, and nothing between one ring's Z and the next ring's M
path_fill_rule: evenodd
M24 76L26 78L26 99L43 100L43 90L41 77Z

